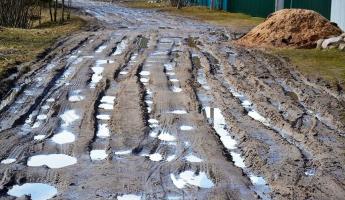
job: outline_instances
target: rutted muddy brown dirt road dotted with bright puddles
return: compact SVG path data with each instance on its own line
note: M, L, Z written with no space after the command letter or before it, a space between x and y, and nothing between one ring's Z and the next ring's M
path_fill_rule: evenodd
M344 95L221 27L74 1L0 105L0 199L344 199Z

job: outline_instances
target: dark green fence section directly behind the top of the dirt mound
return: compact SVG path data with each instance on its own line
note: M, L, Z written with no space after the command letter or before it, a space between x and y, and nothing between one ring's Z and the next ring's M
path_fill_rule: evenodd
M285 0L284 3L285 8L304 8L314 10L327 19L331 17L332 0Z

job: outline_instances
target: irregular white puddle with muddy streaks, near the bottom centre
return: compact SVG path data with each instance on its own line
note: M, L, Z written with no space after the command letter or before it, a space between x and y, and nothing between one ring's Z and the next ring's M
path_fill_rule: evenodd
M179 174L178 178L176 178L174 174L170 174L170 178L174 185L179 189L183 189L188 185L201 188L212 188L214 186L214 183L207 177L205 172L199 172L196 174L195 172L188 170Z

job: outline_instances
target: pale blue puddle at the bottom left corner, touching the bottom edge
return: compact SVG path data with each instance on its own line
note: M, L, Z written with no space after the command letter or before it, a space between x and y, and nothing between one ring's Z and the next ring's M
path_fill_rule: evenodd
M32 200L47 200L53 198L57 194L57 190L48 184L25 183L13 186L7 194L14 197L28 195Z

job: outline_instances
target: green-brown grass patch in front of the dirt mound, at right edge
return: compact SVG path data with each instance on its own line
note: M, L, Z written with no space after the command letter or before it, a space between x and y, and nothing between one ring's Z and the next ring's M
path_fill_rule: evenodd
M307 77L323 78L345 89L345 53L337 49L274 49L273 54L287 57Z

